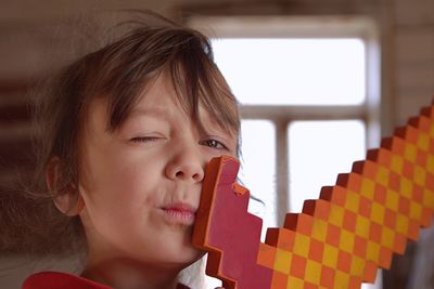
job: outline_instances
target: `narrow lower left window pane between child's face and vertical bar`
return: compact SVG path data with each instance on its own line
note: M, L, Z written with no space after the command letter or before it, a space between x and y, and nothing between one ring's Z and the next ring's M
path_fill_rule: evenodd
M248 211L261 218L265 228L276 226L276 129L271 121L243 120L241 122L241 182L251 195Z

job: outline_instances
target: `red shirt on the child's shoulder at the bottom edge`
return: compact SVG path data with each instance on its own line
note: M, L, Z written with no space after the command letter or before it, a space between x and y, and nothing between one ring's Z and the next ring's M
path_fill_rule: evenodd
M113 289L84 277L61 272L41 272L34 274L24 281L22 289ZM178 284L177 289L189 289Z

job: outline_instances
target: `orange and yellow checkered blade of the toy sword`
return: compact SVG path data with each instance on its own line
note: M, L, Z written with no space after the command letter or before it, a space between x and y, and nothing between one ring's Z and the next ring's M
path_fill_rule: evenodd
M360 288L430 225L434 209L434 106L369 150L335 186L269 228L257 262L271 289Z

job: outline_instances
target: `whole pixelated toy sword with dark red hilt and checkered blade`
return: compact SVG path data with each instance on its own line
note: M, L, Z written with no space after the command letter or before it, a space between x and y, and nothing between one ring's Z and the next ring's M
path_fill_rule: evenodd
M360 288L393 253L417 240L434 210L434 105L368 150L319 199L268 228L247 212L239 162L214 158L206 170L193 244L208 252L206 273L226 289Z

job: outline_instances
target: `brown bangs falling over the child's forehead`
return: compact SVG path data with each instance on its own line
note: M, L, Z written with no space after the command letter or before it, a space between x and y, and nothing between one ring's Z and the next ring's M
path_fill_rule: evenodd
M177 102L200 130L204 131L201 107L220 129L239 134L235 97L213 62L210 44L202 34L178 27L145 27L112 44L102 55L95 86L97 94L107 98L110 131L128 118L156 78L167 75Z

